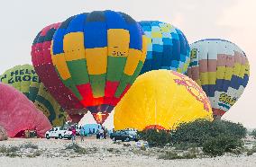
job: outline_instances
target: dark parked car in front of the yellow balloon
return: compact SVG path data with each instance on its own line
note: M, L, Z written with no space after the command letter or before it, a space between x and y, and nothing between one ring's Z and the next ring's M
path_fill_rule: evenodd
M110 134L113 141L122 140L123 142L135 141L138 142L137 132L134 130L120 130Z

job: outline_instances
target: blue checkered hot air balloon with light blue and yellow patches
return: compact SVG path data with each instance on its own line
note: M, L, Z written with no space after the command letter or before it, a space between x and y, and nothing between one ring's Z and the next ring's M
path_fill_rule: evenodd
M190 48L182 31L166 22L139 23L146 35L148 51L141 74L158 69L185 74L190 62Z

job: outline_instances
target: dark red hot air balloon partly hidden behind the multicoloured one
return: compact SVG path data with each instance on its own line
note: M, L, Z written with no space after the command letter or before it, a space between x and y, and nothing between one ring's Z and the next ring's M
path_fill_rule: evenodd
M32 65L50 94L68 112L69 118L73 122L78 122L87 110L69 88L60 81L50 57L51 41L59 25L60 23L54 23L43 28L33 40Z

